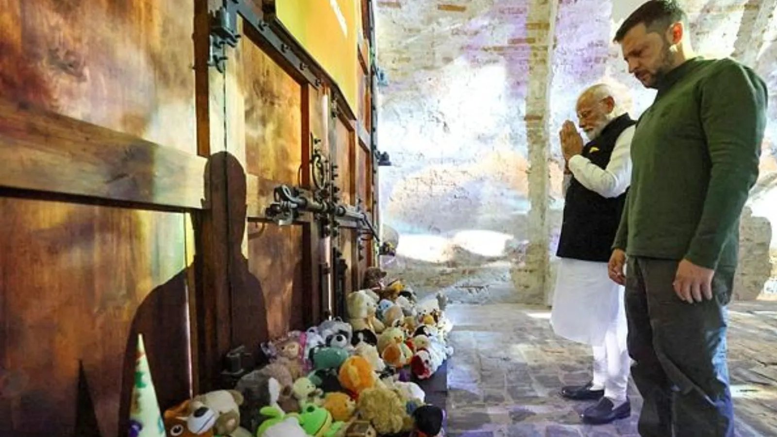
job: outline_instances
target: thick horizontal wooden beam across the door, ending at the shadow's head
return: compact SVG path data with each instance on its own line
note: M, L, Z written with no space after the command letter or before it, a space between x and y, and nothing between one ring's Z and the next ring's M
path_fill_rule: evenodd
M200 209L206 161L0 99L0 187Z

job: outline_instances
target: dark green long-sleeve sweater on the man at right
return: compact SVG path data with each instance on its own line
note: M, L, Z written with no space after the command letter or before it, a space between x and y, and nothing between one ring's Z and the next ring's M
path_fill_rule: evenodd
M613 247L632 257L736 267L767 97L763 80L730 59L695 58L672 70L637 124Z

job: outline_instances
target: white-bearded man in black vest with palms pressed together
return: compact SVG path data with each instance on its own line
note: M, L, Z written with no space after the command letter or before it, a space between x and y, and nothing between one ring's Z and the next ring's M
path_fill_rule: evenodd
M623 288L608 278L607 266L631 180L635 131L619 103L611 87L591 86L577 100L577 118L589 142L584 145L572 121L560 133L566 196L551 323L557 335L593 348L591 382L561 390L566 398L598 400L581 414L590 424L631 414Z

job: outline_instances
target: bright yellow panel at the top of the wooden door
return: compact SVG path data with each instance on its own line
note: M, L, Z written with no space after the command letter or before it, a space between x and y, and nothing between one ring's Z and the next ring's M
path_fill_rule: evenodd
M357 113L360 0L276 0L275 6L280 22L332 76Z

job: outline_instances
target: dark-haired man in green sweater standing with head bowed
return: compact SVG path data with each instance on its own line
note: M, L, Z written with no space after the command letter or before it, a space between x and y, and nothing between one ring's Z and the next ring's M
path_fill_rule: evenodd
M686 23L676 1L651 0L615 36L629 72L657 96L632 140L609 274L626 285L640 435L728 437L726 305L767 92L744 65L695 57Z

